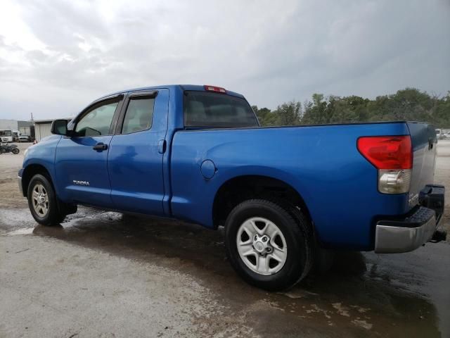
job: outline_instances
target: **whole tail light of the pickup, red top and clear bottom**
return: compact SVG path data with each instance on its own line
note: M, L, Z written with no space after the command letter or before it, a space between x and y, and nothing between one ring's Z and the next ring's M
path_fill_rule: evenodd
M378 191L409 192L413 149L409 136L374 136L358 139L359 152L378 169Z

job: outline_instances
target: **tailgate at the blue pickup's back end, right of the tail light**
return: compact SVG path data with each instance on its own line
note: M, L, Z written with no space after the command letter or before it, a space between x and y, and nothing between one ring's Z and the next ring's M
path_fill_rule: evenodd
M435 180L436 145L435 128L428 123L407 123L413 146L413 173L409 189L409 206L416 206L420 190Z

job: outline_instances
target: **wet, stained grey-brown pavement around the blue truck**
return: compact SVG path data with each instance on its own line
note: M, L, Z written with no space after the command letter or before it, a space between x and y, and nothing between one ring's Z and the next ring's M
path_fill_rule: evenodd
M438 154L450 187L450 141ZM36 225L20 157L0 156L0 337L450 337L449 242L339 252L330 272L269 293L234 273L222 229L85 207ZM448 229L448 192L446 212Z

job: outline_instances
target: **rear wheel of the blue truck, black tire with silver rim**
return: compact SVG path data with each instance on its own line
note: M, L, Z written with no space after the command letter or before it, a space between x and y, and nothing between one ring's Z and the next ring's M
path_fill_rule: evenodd
M250 199L233 208L225 223L226 254L243 280L280 291L308 275L313 260L311 225L300 210L297 213L298 218L265 199Z

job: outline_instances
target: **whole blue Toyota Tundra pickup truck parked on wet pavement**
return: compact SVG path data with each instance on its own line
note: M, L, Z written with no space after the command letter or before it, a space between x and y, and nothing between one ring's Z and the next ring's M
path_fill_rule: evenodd
M224 226L233 268L268 290L327 249L417 249L444 211L426 123L260 127L240 94L170 85L103 96L52 133L18 174L37 223L82 204Z

